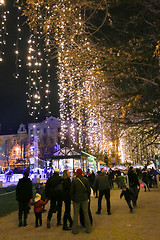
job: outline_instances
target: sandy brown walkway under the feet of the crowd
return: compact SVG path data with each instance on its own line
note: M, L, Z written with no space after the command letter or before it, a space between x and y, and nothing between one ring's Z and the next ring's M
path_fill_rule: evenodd
M112 215L106 213L105 199L102 202L102 213L96 215L97 199L91 199L93 215L93 232L85 233L80 227L78 235L56 227L56 215L53 214L52 227L46 228L47 212L43 214L43 226L34 227L33 208L28 216L28 225L18 228L17 212L0 218L0 239L3 240L160 240L160 189L152 188L151 192L141 189L138 206L134 213L123 199L120 190L111 190ZM49 203L46 209L49 208Z

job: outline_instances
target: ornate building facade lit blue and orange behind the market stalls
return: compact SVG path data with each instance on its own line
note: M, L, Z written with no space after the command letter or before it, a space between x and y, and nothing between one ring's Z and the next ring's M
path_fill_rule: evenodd
M17 134L0 135L0 165L4 168L44 167L44 163L60 147L71 146L70 122L66 122L65 141L61 143L61 120L49 117L29 123L28 132L20 124Z

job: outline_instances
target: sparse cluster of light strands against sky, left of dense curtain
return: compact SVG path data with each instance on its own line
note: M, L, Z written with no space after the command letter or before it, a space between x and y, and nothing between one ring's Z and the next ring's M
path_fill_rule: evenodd
M34 116L35 120L38 120L43 110L51 114L49 102L51 78L49 72L49 54L48 48L45 48L44 51L41 50L43 48L43 41L40 30L34 33L32 29L28 43L27 65L29 75L26 83L29 85L29 91L27 92L27 106L30 109L30 115ZM42 68L43 70L46 69L46 73L42 73Z

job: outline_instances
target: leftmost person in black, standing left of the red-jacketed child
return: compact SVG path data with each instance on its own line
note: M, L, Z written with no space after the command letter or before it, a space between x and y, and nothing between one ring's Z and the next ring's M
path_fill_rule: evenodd
M32 182L28 178L29 173L24 172L23 178L19 179L19 182L16 187L16 200L18 201L19 212L19 227L22 226L22 215L24 214L24 222L23 225L27 225L27 215L28 215L28 207L29 201L32 199Z

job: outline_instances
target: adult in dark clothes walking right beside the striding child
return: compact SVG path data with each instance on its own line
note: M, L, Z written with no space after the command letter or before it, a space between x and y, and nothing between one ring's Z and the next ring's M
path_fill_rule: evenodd
M128 180L129 180L129 189L133 193L133 207L137 206L138 193L140 189L140 183L138 176L133 167L130 167L128 170Z

